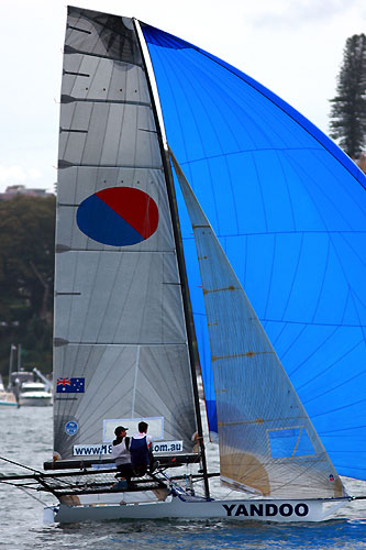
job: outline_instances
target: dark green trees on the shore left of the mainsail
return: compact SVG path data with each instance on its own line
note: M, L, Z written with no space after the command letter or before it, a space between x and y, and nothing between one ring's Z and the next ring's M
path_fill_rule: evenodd
M55 197L0 201L0 372L11 343L25 369L51 371Z

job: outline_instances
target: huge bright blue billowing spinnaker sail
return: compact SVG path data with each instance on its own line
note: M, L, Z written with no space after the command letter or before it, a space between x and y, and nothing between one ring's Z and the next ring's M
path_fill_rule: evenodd
M332 462L343 475L366 479L366 178L245 74L157 29L143 32L168 143ZM176 193L215 431L199 268Z

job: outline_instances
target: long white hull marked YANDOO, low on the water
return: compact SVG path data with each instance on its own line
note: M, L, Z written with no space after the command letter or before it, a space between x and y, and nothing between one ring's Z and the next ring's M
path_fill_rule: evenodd
M122 494L118 498L121 499ZM189 502L178 496L167 502L140 504L96 504L67 506L65 504L45 508L46 522L78 522L104 519L229 519L237 521L323 521L347 499L308 501L202 501Z

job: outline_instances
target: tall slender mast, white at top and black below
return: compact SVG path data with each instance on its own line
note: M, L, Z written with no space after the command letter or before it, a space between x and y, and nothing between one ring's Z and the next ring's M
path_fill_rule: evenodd
M171 174L171 169L170 169L170 164L168 162L168 152L164 147L164 139L163 139L164 122L163 122L163 118L159 118L159 116L158 116L156 94L154 94L154 90L153 90L152 80L151 80L151 70L147 66L146 58L145 58L145 52L144 52L143 44L142 44L143 32L142 32L141 26L140 26L140 21L136 20L135 18L133 18L132 21L133 21L133 24L135 28L137 42L138 42L143 64L144 64L144 69L146 73L146 80L147 80L149 96L152 99L152 107L153 107L154 119L155 119L157 136L158 136L160 153L162 153L162 160L163 160L165 182L166 182L166 188L167 188L167 195L168 195L168 201L169 201L169 208L170 208L170 215L171 215L171 222L173 222L174 239L175 239L176 251L177 251L178 271L179 271L179 276L180 276L180 282L181 282L181 295L182 295L182 302L184 302L184 310L185 310L185 322L186 322L187 339L188 339L189 363L190 363L191 381L192 381L192 388L193 388L193 403L195 403L195 411L196 411L196 420L197 420L198 440L199 440L200 451L201 451L204 493L206 493L206 498L210 498L207 460L206 460L204 442L203 442L202 419L201 419L201 413L200 413L199 393L198 393L197 376L196 376L196 353L193 350L195 337L193 337L193 331L192 331L193 320L192 320L192 315L191 315L188 280L187 280L186 264L185 264L185 257L184 257L184 251L182 251L182 244L181 244L181 238L180 238L178 209L177 209L177 201L176 201L175 190L174 190L173 174Z

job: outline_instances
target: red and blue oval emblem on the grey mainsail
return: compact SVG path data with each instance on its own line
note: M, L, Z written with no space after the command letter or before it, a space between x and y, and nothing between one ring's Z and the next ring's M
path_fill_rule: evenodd
M132 187L110 187L90 195L77 210L77 224L95 241L127 246L145 241L158 224L156 202Z

